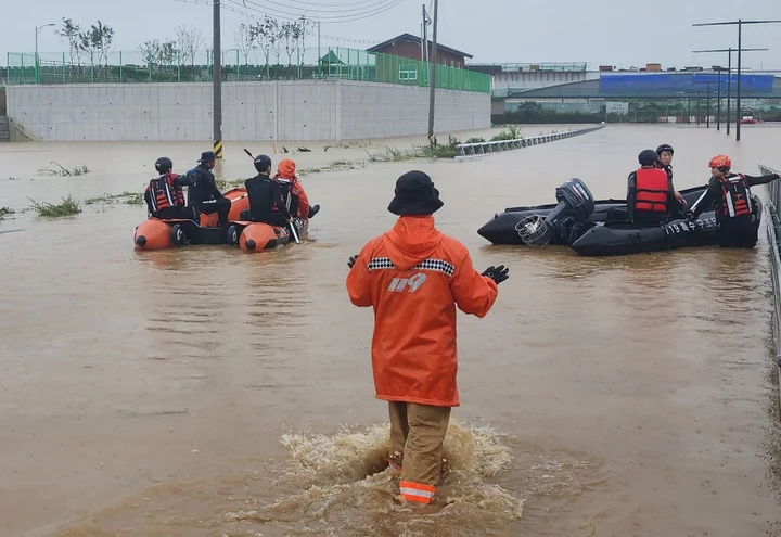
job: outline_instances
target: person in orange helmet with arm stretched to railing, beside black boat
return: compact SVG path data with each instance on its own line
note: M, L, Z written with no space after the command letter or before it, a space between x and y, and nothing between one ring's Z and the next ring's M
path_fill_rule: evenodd
M751 188L766 184L779 178L778 174L752 177L733 174L732 161L727 155L714 156L708 163L710 180L707 190L688 212L690 220L716 203L716 236L724 248L753 248L757 243L757 226L754 221L756 207L752 201Z

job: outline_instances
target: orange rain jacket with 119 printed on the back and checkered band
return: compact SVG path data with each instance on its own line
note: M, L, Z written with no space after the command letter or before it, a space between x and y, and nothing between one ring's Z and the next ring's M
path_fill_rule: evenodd
M377 399L459 406L456 306L484 317L497 298L466 247L439 232L433 216L402 216L363 246L347 292L356 306L374 307Z

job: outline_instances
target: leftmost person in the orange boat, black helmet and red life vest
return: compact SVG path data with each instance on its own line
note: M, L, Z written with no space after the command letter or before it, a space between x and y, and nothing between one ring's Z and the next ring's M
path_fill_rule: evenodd
M192 187L195 183L193 179L174 174L174 163L167 156L157 158L155 169L159 175L150 181L144 191L150 215L165 220L196 220L197 213L185 206L182 190L182 187Z

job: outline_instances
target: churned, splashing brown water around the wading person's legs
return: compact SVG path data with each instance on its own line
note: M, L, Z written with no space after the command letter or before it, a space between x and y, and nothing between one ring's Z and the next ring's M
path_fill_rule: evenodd
M282 443L290 463L273 484L282 498L227 513L229 526L249 529L270 523L285 535L357 536L367 535L368 528L372 535L486 535L507 528L523 513L524 500L484 481L507 470L512 460L501 436L489 427L450 424L444 478L425 511L394 501L398 478L387 469L387 425L343 427L333 436L286 434Z

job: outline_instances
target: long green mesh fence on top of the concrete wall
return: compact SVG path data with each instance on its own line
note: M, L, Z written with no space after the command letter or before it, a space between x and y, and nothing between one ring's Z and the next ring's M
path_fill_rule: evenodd
M428 86L430 64L389 54L348 48L309 47L302 50L222 52L225 81L343 79ZM111 52L9 52L7 80L16 84L204 82L212 80L210 51L144 54ZM490 77L482 73L436 66L436 87L490 92Z

